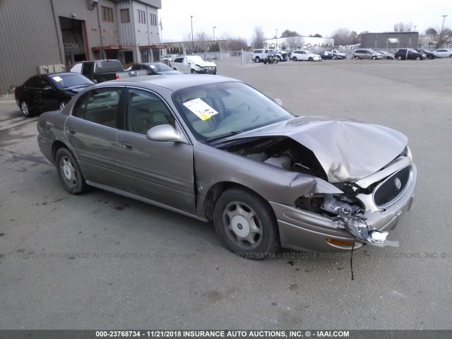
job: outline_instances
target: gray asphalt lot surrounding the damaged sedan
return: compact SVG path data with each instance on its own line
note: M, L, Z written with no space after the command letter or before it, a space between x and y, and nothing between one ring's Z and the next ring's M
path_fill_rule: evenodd
M230 253L213 225L93 189L73 196L36 118L0 98L0 329L452 329L452 59L218 63L295 114L405 133L416 200L350 254Z

